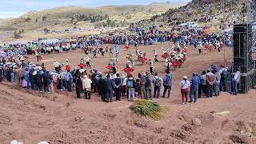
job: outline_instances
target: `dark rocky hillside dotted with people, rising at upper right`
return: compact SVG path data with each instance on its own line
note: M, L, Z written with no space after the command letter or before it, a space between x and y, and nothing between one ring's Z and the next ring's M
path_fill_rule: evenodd
M169 26L174 22L197 21L202 25L213 26L214 29L226 29L243 21L245 14L243 0L192 0L185 6L167 10L163 14L154 15L150 19L136 22L134 26L142 25L164 25ZM204 18L210 17L210 21Z

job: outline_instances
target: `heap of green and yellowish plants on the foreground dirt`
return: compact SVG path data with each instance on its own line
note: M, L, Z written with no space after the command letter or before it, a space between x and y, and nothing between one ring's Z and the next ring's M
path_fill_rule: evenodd
M133 106L130 106L130 110L132 110L134 114L159 120L162 118L163 109L158 102L140 99L136 100Z

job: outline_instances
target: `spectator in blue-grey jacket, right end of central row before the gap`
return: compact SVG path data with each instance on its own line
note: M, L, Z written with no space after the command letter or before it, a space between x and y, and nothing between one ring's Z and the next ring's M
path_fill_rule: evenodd
M171 86L172 86L172 80L173 80L172 74L170 74L169 70L166 70L166 76L163 78L164 91L163 91L162 98L166 98L167 90L168 90L168 98L170 98L170 90L171 90Z

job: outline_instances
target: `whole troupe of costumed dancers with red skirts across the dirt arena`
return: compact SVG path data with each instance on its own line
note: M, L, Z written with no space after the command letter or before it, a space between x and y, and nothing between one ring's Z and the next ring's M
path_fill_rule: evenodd
M195 44L195 48L197 48L197 44ZM175 42L174 45L166 48L162 48L162 55L161 59L159 59L158 53L159 50L152 51L154 57L148 58L148 54L146 53L145 49L139 49L138 46L134 45L135 47L135 54L132 54L130 51L130 44L129 42L126 43L126 45L123 46L123 49L127 51L126 53L126 67L122 69L122 71L126 72L126 74L130 74L134 72L135 63L141 65L149 65L150 73L154 74L154 62L165 62L166 70L176 70L177 68L182 66L182 63L186 61L186 54L190 50L186 44L182 42ZM216 42L214 44L206 43L204 45L206 50L222 50L223 44L222 42ZM86 54L85 58L81 58L80 62L78 62L78 67L80 69L83 68L91 68L90 61L91 58L97 58L98 55L101 55L101 57L105 57L105 54L109 53L110 62L106 66L107 70L112 71L114 74L119 70L118 61L120 58L120 51L121 46L119 44L113 45L106 45L106 46L86 46L82 49L84 53ZM198 46L199 54L202 53L202 45ZM92 54L92 57L89 57L89 54ZM42 55L40 52L36 52L36 57L38 61L42 60ZM152 54L150 54L152 55ZM68 60L66 60L65 63L62 65L57 65L55 63L55 68L58 70L58 66L65 66L66 70L70 70L70 65Z

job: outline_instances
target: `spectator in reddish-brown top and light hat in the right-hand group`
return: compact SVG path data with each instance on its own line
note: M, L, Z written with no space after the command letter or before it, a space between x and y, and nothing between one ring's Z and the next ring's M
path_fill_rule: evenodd
M213 97L213 93L214 93L214 74L210 71L207 70L206 73L206 97L207 98L211 98Z

